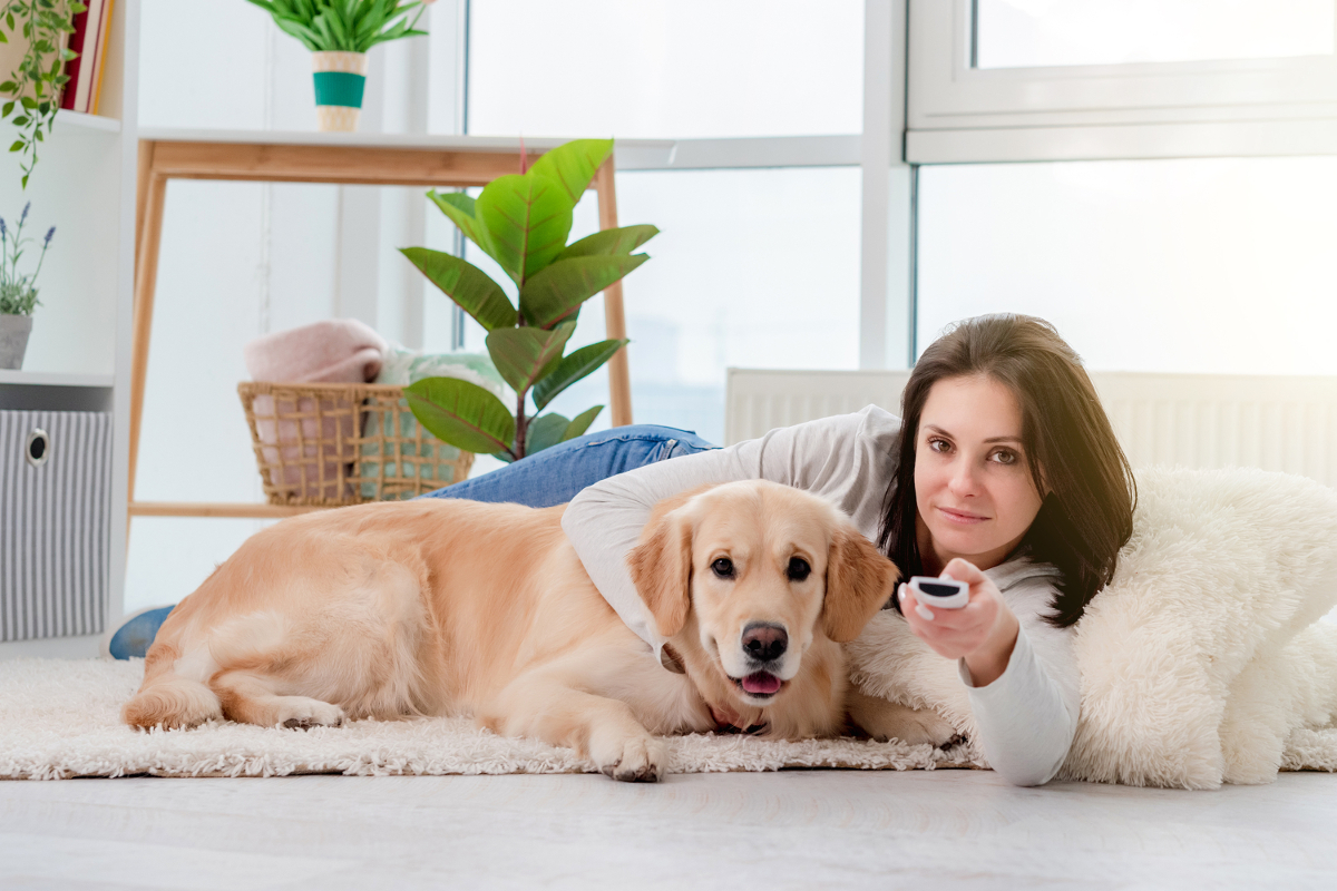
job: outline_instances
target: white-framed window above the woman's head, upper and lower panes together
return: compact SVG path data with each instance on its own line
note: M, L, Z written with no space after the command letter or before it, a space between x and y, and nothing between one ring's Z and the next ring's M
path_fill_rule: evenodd
M1095 369L1337 373L1334 0L909 5L916 354L1015 311Z

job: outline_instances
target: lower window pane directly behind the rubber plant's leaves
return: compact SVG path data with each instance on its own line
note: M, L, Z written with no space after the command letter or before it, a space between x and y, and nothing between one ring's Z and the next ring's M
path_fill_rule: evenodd
M638 421L722 442L726 367L857 367L858 186L853 167L618 176L620 222L660 230L644 246L650 262L624 282ZM433 222L429 240L443 242L448 227ZM571 238L596 227L591 194L576 207ZM469 244L465 256L513 291L483 251ZM428 301L429 326L448 325L445 298L433 293ZM596 297L580 311L571 349L603 337L603 299ZM483 351L483 338L468 319L464 349ZM600 370L560 395L552 410L572 417L607 397ZM608 421L604 411L592 429Z

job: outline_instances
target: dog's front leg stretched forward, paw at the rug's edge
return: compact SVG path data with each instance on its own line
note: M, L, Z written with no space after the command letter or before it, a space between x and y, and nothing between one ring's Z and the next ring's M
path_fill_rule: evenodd
M668 749L623 701L575 689L547 673L521 675L479 711L483 727L566 745L615 780L655 783Z

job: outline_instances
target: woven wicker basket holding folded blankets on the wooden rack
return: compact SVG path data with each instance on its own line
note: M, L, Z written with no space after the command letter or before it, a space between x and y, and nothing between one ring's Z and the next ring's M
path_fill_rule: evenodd
M237 386L275 505L394 501L469 476L473 454L422 430L404 387L376 383Z

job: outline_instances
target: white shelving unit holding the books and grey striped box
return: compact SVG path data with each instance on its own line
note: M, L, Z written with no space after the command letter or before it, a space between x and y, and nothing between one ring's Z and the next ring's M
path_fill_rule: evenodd
M115 621L126 576L139 0L112 5L106 59L99 114L56 112L27 190L20 188L17 155L0 163L0 216L11 231L24 204L32 203L25 234L33 244L25 260L47 228L56 227L37 282L41 305L33 313L23 370L0 370L0 407L112 414L104 616ZM0 659L95 656L98 637L0 643Z

